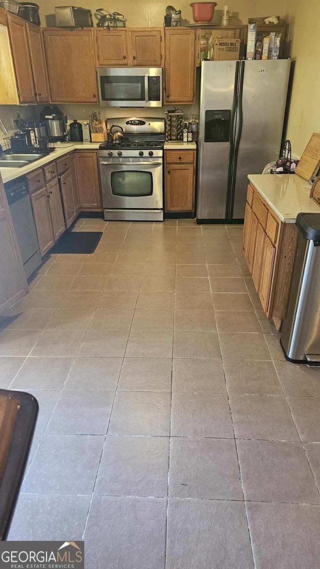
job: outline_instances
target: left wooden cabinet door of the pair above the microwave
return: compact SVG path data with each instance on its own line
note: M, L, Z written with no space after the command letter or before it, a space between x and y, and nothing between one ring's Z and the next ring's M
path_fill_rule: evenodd
M96 30L99 65L128 65L127 31Z

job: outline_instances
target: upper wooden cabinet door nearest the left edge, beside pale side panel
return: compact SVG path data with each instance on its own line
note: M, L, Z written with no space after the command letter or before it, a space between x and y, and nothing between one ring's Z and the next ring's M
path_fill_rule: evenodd
M8 13L7 18L20 102L36 102L26 21L10 13Z

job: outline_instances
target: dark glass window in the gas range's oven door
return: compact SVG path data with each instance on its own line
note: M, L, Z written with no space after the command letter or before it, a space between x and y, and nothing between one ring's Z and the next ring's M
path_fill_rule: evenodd
M139 170L111 172L111 191L114 196L152 196L152 173Z

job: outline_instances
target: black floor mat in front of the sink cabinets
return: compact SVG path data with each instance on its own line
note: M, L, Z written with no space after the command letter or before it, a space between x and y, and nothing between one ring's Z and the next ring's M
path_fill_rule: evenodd
M89 253L94 253L101 236L102 231L67 231L60 237L50 253L82 253L88 255Z

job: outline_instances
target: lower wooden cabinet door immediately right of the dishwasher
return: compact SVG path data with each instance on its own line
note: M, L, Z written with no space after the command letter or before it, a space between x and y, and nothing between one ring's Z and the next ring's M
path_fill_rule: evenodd
M38 233L38 241L40 253L43 257L51 247L55 244L53 237L52 222L49 210L47 189L39 189L38 192L32 193L30 196L32 208L34 210L36 230Z

